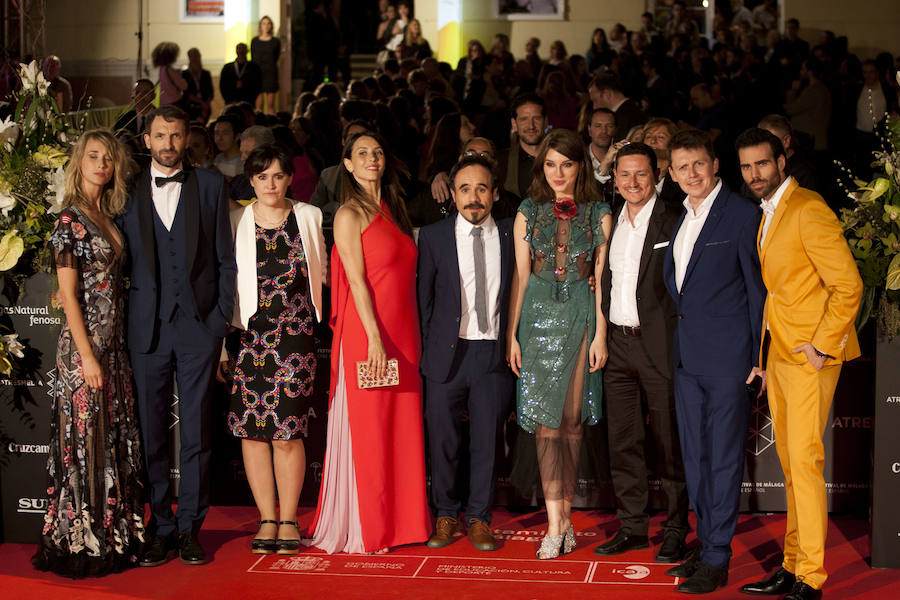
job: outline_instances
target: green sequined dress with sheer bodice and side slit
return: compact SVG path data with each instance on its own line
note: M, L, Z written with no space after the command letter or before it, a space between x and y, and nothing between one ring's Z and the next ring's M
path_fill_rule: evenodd
M553 203L526 198L525 215L531 245L532 273L525 288L518 340L522 371L516 391L519 425L534 433L538 425L558 428L578 351L596 327L594 293L588 285L594 249L605 242L600 221L610 213L604 202L578 205L569 220L557 219ZM602 376L585 364L581 421L589 425L602 415Z

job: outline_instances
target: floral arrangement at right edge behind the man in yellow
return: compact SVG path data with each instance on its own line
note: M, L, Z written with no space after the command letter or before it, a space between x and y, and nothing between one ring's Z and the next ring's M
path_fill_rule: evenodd
M841 225L865 286L857 329L874 313L880 331L892 339L900 335L900 119L888 121L880 137L872 180L853 179L854 190L841 183L853 200L841 211Z

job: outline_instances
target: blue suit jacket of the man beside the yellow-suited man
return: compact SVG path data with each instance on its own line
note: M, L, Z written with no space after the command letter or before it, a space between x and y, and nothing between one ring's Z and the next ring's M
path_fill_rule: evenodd
M684 282L675 285L675 237L666 250L665 282L678 312L674 365L694 375L746 377L759 366L766 288L756 233L759 207L722 183L694 244Z

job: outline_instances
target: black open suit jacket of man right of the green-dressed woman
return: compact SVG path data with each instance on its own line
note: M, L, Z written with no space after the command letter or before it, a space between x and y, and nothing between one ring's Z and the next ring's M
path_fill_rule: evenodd
M616 235L616 224L619 214L625 207L616 212L613 228L609 235L609 245ZM641 251L641 264L638 269L637 306L641 320L641 343L647 355L657 369L664 375L672 376L672 335L675 333L675 302L666 290L663 281L663 264L669 240L675 232L675 225L681 217L681 210L666 204L657 196L650 222L647 224L647 237ZM603 266L601 291L603 293L603 314L609 319L610 292L612 289L612 270L609 259Z

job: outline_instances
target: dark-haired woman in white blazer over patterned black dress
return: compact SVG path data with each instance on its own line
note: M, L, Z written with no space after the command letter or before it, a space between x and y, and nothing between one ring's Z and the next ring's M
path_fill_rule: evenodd
M286 197L294 168L276 144L254 149L244 174L256 199L231 213L237 262L232 325L241 334L232 355L227 422L241 439L244 470L259 510L251 551L296 554L297 502L306 471L303 438L316 376L314 326L322 318L327 260L322 211ZM222 360L228 372L224 348Z

